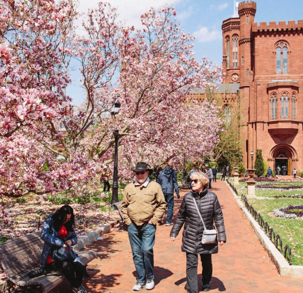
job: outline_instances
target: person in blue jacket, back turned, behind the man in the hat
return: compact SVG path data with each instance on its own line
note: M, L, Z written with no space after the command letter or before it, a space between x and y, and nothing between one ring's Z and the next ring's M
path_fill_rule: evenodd
M166 168L160 172L157 178L157 183L161 185L165 201L167 202L166 226L173 225L174 190L176 191L177 198L180 199L177 174L172 167L173 163L168 162Z

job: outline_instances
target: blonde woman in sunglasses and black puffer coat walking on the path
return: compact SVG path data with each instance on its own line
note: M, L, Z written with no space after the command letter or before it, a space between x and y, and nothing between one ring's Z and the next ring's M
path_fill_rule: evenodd
M202 262L203 291L209 291L213 273L212 254L218 253L218 244L222 246L226 242L226 234L218 198L214 192L208 190L208 177L198 172L193 173L190 180L192 191L186 193L183 198L170 238L174 241L185 223L181 250L186 253L186 290L188 293L198 293L197 255L200 255ZM204 226L193 201L196 202L207 229L214 229L216 224L216 243L201 243Z

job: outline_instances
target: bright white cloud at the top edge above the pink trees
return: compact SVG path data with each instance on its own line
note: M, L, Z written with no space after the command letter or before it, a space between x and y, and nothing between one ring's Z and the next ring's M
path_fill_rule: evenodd
M99 0L80 0L79 12L87 12L88 9L97 7ZM105 0L113 7L117 8L119 20L125 22L129 26L140 27L140 16L148 11L150 7L160 8L166 3L173 5L180 0Z

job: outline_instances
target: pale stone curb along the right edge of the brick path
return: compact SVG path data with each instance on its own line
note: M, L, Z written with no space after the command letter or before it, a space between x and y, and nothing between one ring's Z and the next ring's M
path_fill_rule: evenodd
M292 266L286 261L284 256L280 253L280 251L275 247L274 243L270 240L264 230L261 228L259 223L255 220L254 217L249 213L246 209L245 205L241 201L241 197L238 197L237 194L232 190L229 184L226 182L227 187L232 192L234 198L236 199L237 205L245 214L248 222L250 223L252 229L254 229L260 243L263 248L269 255L270 259L277 267L280 276L291 276L294 278L303 278L303 266Z

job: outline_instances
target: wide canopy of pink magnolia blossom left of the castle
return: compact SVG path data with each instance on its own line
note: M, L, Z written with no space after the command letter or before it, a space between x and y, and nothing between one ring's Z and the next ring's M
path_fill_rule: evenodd
M72 34L70 1L2 1L1 12L1 194L95 182L113 162L115 129L123 178L138 160L178 163L218 142L215 105L198 105L189 93L218 79L220 68L194 59L192 37L179 29L173 8L150 9L141 17L143 28L135 30L100 3L87 13L82 36ZM71 107L64 91L71 60L86 92L80 107ZM113 120L116 101L121 111ZM59 143L63 160L56 159Z

